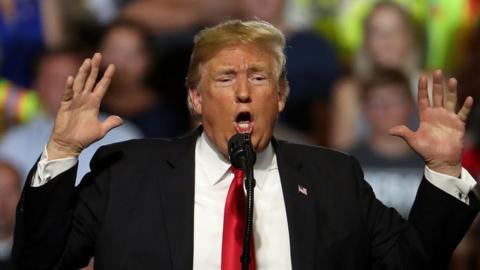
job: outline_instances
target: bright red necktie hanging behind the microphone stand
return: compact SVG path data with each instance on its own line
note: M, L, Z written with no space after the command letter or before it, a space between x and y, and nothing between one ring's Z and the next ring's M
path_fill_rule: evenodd
M231 167L234 178L228 189L223 217L222 270L240 270L240 256L243 249L243 233L245 229L246 198L243 191L243 171ZM250 248L249 270L255 270L255 247L253 236Z

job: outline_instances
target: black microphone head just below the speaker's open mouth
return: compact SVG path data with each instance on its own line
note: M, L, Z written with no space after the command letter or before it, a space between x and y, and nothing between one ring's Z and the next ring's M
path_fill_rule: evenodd
M253 168L257 155L253 151L249 133L237 133L228 140L230 163L238 169L246 171Z

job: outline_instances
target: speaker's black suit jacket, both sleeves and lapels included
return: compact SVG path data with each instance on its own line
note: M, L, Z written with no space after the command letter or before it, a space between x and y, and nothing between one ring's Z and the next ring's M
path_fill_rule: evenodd
M198 134L103 147L77 188L76 168L42 187L27 181L13 250L19 269L75 269L91 256L96 270L192 269ZM295 270L442 269L477 213L423 180L407 222L375 198L354 158L273 144Z

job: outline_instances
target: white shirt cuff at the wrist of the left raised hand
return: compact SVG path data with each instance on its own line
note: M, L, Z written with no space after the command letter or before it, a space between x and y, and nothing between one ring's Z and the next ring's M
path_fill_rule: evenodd
M67 157L48 160L47 147L45 146L40 161L37 164L37 171L33 175L32 187L40 187L48 183L55 176L65 172L77 164L77 157Z

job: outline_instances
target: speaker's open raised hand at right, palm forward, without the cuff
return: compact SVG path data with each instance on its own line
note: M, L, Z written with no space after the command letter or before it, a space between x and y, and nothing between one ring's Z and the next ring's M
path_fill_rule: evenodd
M427 77L421 76L418 81L418 130L414 132L406 126L396 126L390 129L390 134L403 138L430 169L459 177L465 121L472 109L473 99L465 99L460 111L455 113L457 80L449 79L445 89L440 70L433 75L432 104L428 99L427 88Z

